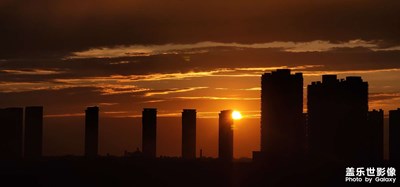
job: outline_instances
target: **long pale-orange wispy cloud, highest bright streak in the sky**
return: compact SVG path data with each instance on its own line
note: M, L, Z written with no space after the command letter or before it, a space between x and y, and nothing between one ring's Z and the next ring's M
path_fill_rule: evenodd
M325 40L314 40L309 42L275 41L268 43L221 43L221 42L199 42L193 44L164 44L164 45L130 45L92 48L86 51L73 52L65 59L76 58L115 58L115 57L134 57L151 56L160 54L193 54L207 52L207 48L231 47L249 49L268 49L276 48L286 52L324 52L335 48L356 48L364 47L371 50L399 50L399 47L380 48L379 41L365 41L360 39L332 43ZM199 50L202 49L202 50Z

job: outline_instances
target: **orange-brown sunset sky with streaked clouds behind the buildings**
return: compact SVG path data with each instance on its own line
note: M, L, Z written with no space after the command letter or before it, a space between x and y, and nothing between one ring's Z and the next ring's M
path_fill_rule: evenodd
M234 154L251 157L264 72L302 72L305 93L323 74L362 76L370 110L400 107L399 17L394 0L2 0L0 107L44 106L45 155L83 153L93 105L100 153L134 151L142 109L158 108L166 156L195 108L198 152L213 157L218 112L236 109Z

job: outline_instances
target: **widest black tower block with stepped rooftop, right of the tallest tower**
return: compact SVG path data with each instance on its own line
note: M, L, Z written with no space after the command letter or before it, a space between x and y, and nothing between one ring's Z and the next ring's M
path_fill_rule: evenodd
M341 160L362 160L368 148L368 83L323 75L308 86L310 152Z

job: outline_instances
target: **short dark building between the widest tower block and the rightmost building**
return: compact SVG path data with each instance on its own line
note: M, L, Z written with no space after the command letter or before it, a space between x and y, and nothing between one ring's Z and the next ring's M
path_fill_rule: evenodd
M370 145L371 153L366 156L369 156L370 160L383 160L383 115L382 109L368 112L368 123L365 128L369 130L366 141Z

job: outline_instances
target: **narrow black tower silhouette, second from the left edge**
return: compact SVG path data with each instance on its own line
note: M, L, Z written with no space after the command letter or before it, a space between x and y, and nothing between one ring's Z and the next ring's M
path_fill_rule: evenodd
M24 156L42 156L43 107L25 107Z

